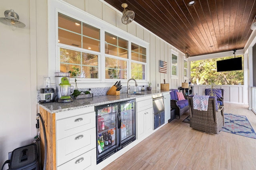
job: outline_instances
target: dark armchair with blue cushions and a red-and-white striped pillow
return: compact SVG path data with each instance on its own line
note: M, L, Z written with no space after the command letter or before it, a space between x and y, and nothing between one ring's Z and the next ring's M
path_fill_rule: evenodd
M171 108L175 109L175 114L180 116L188 111L189 106L188 106L188 100L180 100L178 101L178 96L177 96L178 89L172 89L170 90L170 95L171 95ZM186 98L186 96L184 96Z

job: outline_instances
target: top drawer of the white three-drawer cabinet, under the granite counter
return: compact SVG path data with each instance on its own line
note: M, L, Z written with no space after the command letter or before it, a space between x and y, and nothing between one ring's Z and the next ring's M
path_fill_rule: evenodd
M70 135L96 127L95 112L85 113L56 121L56 139L62 139Z

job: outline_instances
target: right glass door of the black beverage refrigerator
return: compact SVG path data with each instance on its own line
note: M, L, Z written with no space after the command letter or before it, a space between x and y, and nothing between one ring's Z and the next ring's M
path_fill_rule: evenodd
M122 143L135 136L135 101L120 103L121 127L120 136Z

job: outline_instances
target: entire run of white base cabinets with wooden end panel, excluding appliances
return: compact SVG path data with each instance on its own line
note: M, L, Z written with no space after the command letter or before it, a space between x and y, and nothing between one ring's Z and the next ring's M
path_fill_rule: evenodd
M164 94L165 123L170 119L170 94ZM46 126L48 142L47 167L51 170L91 170L105 167L109 162L96 164L96 114L94 106L58 113L40 108ZM136 141L107 158L118 155L137 145L154 133L152 96L136 98ZM40 127L41 128L41 127ZM157 130L157 129L156 129ZM155 130L155 131L156 131ZM42 136L41 150L44 146ZM106 160L107 161L107 160ZM110 162L112 162L110 161Z

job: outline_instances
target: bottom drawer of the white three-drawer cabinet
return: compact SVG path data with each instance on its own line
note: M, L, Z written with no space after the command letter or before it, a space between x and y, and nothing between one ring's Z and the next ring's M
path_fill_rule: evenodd
M67 163L58 166L57 170L94 169L96 166L96 149L92 149Z

